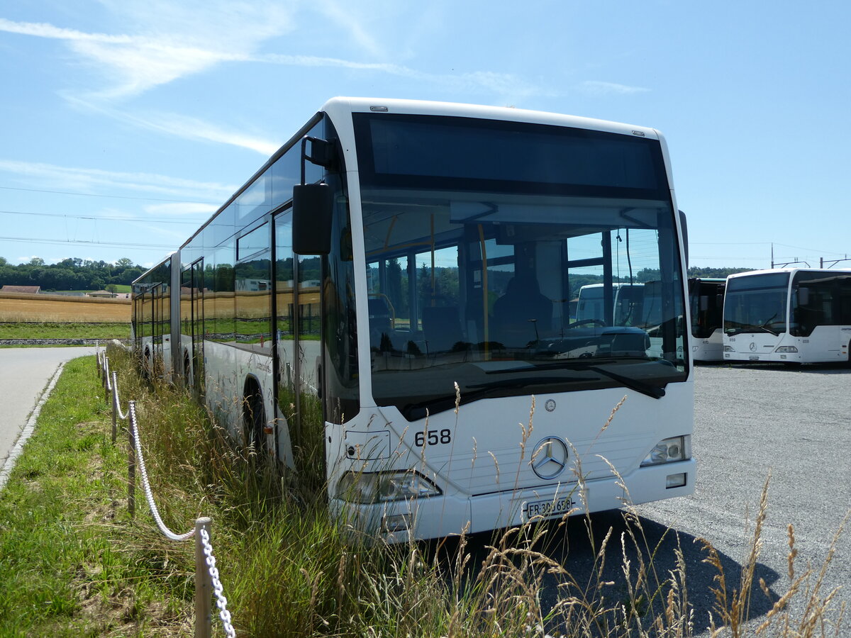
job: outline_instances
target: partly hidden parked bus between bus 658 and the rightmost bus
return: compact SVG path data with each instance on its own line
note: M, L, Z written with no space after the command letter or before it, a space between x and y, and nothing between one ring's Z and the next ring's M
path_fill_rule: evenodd
M691 311L691 345L694 361L722 361L724 287L726 279L691 277L688 305Z

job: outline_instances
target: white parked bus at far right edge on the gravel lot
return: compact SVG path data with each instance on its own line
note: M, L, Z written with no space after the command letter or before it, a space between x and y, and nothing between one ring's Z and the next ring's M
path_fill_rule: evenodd
M851 270L728 276L723 339L725 361L851 361Z

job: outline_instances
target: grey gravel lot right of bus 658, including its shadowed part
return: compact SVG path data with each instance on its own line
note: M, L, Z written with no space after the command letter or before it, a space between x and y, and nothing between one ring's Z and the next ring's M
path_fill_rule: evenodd
M639 544L645 545L641 552L645 560L659 545L654 566L660 578L676 567L677 546L683 551L688 600L694 607L694 635L708 635L700 629L708 626L710 612L717 618L710 591L716 585L717 570L703 562L706 553L698 539L705 538L717 550L732 595L734 589L740 589L762 487L770 474L768 514L751 590L752 633L774 601L788 590L789 524L794 526L798 551L796 576L808 564L818 572L843 516L851 509L851 368L705 365L695 370L694 395L696 491L689 497L637 506L641 529L633 531ZM591 528L594 544L584 517L574 516L562 529L548 534L545 553L563 564L578 582L593 582L595 556L611 528L604 575L614 584L608 586L607 597L627 601L622 534L626 533L626 555L633 572L638 555L624 516L618 510L591 516ZM481 557L487 553L484 545L488 541L475 539L473 546L481 544L477 549ZM849 564L851 521L839 538L822 584L824 595L842 586L835 607L844 601L851 609ZM768 585L770 599L759 589L760 578ZM545 579L545 608L557 601L559 582L553 577ZM791 608L797 609L801 600L801 596L793 599ZM839 635L851 635L849 616L846 612Z

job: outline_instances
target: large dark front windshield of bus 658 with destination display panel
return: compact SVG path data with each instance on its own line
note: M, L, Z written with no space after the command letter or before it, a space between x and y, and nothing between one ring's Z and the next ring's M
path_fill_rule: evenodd
M659 398L686 379L658 140L463 117L354 124L378 405L413 420L453 407L454 384L463 403Z

